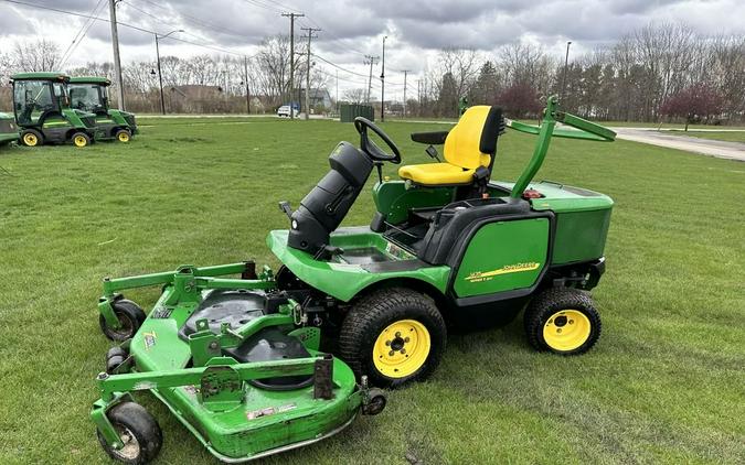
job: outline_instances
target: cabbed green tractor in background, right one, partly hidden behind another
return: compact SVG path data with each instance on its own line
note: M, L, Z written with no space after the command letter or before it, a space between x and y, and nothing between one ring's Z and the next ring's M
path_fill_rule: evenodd
M135 115L109 107L110 85L106 77L72 77L67 86L71 106L96 115L96 128L104 133L100 139L129 142L137 133Z

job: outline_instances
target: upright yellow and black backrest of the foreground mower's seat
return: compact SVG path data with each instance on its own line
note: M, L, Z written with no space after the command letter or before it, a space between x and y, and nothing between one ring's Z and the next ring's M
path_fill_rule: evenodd
M470 107L445 139L445 160L472 170L489 166L497 150L502 110L478 105Z

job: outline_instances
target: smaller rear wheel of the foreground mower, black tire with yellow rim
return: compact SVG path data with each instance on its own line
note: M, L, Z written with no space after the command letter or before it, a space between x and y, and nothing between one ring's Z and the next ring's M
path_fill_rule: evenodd
M578 355L600 337L600 315L592 298L571 288L547 289L525 309L525 334L538 350Z

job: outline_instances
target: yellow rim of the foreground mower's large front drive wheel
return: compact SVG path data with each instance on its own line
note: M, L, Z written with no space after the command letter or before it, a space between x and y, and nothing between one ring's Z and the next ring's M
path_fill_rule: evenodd
M429 356L432 338L416 320L400 320L381 332L373 346L375 368L389 378L414 375Z

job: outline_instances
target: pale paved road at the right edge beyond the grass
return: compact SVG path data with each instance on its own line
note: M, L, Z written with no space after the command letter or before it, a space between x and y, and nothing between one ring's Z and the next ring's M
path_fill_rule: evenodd
M702 153L720 159L745 161L745 143L742 142L725 142L688 136L666 134L664 131L657 131L653 128L610 129L616 131L618 139L667 147L669 149L685 150L688 152Z

